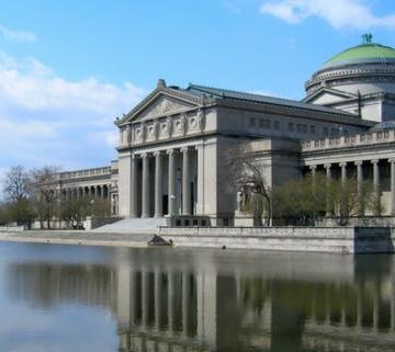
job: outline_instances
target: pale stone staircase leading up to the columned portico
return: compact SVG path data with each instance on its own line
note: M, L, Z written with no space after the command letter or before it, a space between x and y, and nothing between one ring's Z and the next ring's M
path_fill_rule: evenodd
M92 232L111 234L153 234L157 232L158 226L166 226L167 219L159 218L134 218L122 219L120 222L98 227Z

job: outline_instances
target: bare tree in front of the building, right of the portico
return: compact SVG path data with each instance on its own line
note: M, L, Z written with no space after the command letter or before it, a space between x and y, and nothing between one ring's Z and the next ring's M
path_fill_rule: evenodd
M230 146L226 151L228 172L228 192L236 194L240 188L251 190L251 196L245 211L256 219L264 217L264 224L270 225L272 217L271 190L264 178L264 166L253 156L250 143L241 140Z

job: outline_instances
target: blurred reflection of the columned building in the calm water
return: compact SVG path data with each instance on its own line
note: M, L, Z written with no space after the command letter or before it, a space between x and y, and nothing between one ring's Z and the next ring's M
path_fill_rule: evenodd
M119 351L394 351L391 256L114 250L114 264L10 264L16 299L111 309Z

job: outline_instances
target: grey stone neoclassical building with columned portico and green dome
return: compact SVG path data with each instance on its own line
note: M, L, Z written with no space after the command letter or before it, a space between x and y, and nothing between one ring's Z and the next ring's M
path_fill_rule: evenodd
M247 140L268 186L306 172L371 180L395 215L395 49L363 36L305 83L302 101L189 84L157 88L115 121L111 166L63 172L71 196L109 197L126 219L182 218L178 225L232 225L225 155Z

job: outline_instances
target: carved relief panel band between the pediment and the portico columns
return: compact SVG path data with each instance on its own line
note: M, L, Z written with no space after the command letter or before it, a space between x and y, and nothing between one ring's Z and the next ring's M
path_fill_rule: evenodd
M121 147L199 134L204 125L205 113L201 109L132 123L121 128Z

